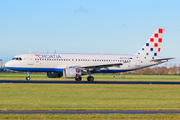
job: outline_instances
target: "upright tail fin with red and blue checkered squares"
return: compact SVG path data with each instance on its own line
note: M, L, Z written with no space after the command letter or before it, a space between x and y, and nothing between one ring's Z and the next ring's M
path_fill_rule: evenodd
M159 56L164 31L165 29L157 29L136 54L146 56Z

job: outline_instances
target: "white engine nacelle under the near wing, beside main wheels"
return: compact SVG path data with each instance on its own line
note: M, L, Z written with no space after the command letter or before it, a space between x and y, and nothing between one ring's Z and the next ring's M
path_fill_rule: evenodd
M65 68L63 75L65 78L79 78L82 74L82 70L79 68Z

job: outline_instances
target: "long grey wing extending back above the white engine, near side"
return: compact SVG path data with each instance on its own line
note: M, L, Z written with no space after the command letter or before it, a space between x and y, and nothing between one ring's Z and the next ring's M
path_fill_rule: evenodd
M84 70L89 70L89 71L95 71L99 70L101 68L108 69L108 67L120 67L123 65L122 62L111 62L111 63L96 63L96 64L87 64L87 65L78 65L78 66L71 66L71 67L76 67L76 68L82 68Z

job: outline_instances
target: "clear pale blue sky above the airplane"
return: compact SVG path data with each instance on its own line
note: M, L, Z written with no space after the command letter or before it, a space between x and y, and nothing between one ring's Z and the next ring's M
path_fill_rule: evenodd
M31 52L134 54L157 28L180 63L179 0L2 0L0 58Z

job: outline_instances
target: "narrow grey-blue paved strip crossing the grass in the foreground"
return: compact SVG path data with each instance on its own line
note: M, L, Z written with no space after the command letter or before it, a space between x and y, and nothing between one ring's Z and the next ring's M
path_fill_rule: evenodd
M179 114L180 111L0 111L0 114Z

